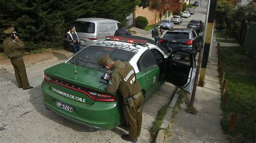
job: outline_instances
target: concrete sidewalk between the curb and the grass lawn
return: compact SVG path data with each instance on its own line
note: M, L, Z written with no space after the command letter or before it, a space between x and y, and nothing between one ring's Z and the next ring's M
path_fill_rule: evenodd
M221 46L239 46L220 43ZM191 95L186 95L176 118L170 120L172 137L158 142L228 142L221 129L220 82L218 77L217 42L213 34L211 57L207 64L204 87L197 87L194 108L196 115L185 110L190 104ZM166 127L167 128L167 127ZM161 134L161 133L160 133ZM160 135L163 138L163 135ZM162 132L163 134L163 132Z

